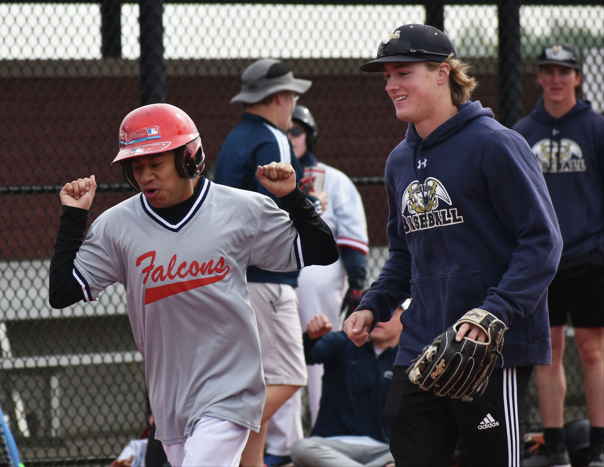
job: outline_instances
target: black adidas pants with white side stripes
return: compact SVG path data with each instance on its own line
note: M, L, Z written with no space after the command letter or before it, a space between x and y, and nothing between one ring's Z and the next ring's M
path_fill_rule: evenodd
M493 370L484 394L472 402L423 391L405 370L394 367L384 407L397 467L449 466L460 437L468 466L522 465L532 366Z

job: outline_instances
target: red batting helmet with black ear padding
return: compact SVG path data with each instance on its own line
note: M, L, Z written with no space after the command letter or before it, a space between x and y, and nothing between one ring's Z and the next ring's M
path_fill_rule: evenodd
M199 132L185 112L170 104L151 104L130 112L120 125L120 152L112 164L121 163L126 181L140 192L130 158L173 149L182 178L196 178L204 170L204 149Z

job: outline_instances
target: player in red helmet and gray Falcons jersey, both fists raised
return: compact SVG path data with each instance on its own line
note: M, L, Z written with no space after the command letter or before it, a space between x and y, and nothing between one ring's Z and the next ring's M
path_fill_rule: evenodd
M200 177L199 133L174 106L130 112L120 127L117 162L142 193L101 214L83 243L95 178L61 190L50 304L94 301L122 283L145 359L156 438L170 464L239 465L265 402L246 268L332 263L338 259L332 233L297 188L290 164L259 166L256 173L284 210L268 196Z

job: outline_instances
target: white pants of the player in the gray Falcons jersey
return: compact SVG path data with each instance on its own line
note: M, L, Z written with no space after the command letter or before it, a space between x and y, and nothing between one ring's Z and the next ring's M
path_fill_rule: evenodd
M162 445L172 467L237 467L248 436L248 428L205 415L184 443Z

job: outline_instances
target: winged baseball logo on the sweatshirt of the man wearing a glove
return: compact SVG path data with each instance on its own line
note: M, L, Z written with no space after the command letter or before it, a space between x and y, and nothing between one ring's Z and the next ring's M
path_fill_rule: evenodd
M411 182L402 200L405 233L463 222L457 208L439 209L439 200L451 206L451 197L438 179L428 177L421 184L417 180ZM410 215L405 216L405 210Z

